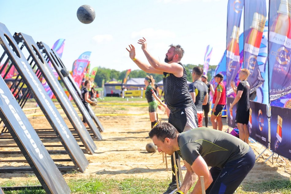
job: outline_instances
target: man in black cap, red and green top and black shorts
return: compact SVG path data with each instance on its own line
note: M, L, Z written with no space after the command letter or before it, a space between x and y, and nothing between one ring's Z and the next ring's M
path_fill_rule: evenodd
M222 130L222 110L226 103L226 94L225 94L225 86L223 84L223 74L218 73L216 76L214 76L215 82L217 83L217 87L214 91L214 96L212 103L214 104L211 114L211 123L212 128L218 130Z

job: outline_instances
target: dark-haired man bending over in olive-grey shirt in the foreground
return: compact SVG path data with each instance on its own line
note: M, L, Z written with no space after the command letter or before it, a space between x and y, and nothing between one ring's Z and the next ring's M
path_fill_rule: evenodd
M200 176L204 177L206 194L234 193L255 164L251 147L229 133L199 127L179 133L169 123L159 123L149 132L159 152L171 155L177 151L184 160L187 173L176 194L202 193ZM211 166L210 170L208 166Z

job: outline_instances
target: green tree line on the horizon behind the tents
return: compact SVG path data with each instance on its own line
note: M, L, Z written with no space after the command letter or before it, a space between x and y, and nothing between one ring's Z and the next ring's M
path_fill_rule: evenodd
M184 65L185 69L186 69L186 73L187 73L187 80L192 82L192 76L191 76L191 72L192 72L192 69L195 67L195 66L199 66L199 67L202 67L203 68L203 65L192 65L192 64L187 64L187 65ZM209 65L209 71L213 70L216 68L216 65ZM116 79L116 80L123 80L124 79L124 76L125 76L125 73L126 73L127 69L126 70L123 70L123 71L117 71L115 69L108 69L108 68L105 68L105 67L98 67L98 71L96 73L96 77L95 77L95 82L96 84L101 87L102 85L102 80L104 79L105 80L105 83L108 82L109 80L111 80L112 78ZM156 82L159 82L163 79L163 75L160 75L160 74L147 74L146 72L140 70L140 69L137 69L137 70L132 70L130 72L130 75L129 77L130 78L138 78L138 77L146 77L146 75L152 75ZM207 76L208 76L208 81L210 81L211 79L211 75L210 73L207 73Z

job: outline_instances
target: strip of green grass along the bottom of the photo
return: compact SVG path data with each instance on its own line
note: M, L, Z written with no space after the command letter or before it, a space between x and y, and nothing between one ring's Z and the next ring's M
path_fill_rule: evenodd
M122 180L101 179L100 177L90 177L82 179L66 180L72 193L75 194L156 194L163 193L168 188L169 180L149 179L149 178L126 178ZM36 182L17 184L13 181L7 181L2 187L11 187L19 185L39 185ZM188 193L192 191L193 187ZM22 190L6 191L6 194L44 194L44 190ZM271 193L291 193L290 180L270 180L261 183L247 183L241 185L236 194L271 194Z

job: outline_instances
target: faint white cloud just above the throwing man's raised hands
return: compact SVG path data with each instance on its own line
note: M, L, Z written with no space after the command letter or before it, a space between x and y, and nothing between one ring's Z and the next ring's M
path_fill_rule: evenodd
M154 30L153 28L142 29L139 32L132 32L131 38L175 38L176 34L174 32L166 30Z

